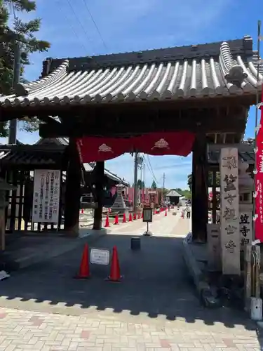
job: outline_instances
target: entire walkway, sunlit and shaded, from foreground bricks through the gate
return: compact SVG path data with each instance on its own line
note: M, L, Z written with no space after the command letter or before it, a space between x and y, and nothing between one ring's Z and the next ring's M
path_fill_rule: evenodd
M131 251L130 234L144 228L112 226L95 242L118 247L120 284L105 282L109 267L98 265L90 280L72 279L80 248L0 282L0 351L260 350L245 314L201 307L182 262L189 221L154 216L154 236Z

